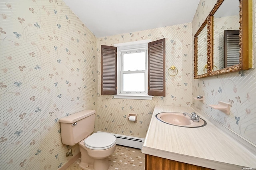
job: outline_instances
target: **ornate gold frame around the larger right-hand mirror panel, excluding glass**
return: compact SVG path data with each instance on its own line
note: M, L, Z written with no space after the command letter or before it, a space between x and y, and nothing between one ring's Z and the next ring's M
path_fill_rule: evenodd
M224 73L230 73L234 71L240 71L240 70L248 70L248 0L239 0L239 16L240 16L240 26L239 26L239 64L234 65L232 67L226 67L224 69L220 69L217 71L212 71L212 68L214 66L213 63L213 41L214 41L214 23L213 23L213 15L218 10L219 6L222 4L224 0L218 0L214 7L212 8L210 14L209 14L209 26L210 26L210 69L208 69L208 75L214 76L214 75L220 75ZM244 39L244 41L242 41ZM211 50L212 49L212 50ZM209 65L208 65L209 67Z

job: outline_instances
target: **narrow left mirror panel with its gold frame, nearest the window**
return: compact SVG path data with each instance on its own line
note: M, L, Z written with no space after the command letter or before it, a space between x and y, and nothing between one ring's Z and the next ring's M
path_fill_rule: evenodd
M208 76L208 29L207 19L194 36L194 77Z

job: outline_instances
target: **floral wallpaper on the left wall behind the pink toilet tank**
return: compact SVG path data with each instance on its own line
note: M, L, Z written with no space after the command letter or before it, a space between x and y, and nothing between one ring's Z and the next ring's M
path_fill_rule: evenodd
M0 2L0 169L58 169L72 158L59 120L97 109L96 42L62 0Z

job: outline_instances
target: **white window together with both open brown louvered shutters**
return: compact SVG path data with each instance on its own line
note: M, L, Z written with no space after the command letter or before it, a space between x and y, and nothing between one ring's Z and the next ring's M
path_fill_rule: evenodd
M165 96L165 39L101 46L102 95Z

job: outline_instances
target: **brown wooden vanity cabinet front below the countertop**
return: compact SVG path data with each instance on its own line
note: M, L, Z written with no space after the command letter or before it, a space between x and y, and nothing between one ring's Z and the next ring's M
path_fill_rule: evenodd
M145 170L212 170L212 169L145 154Z

